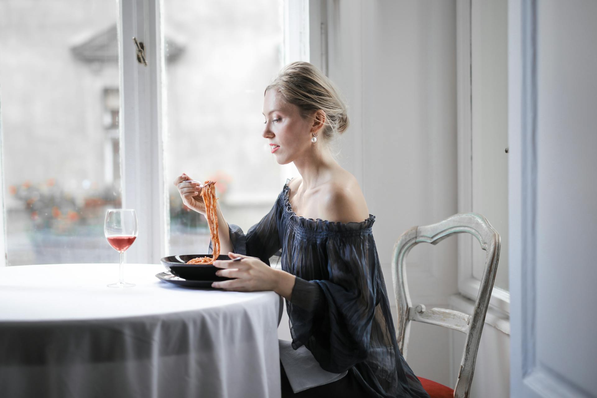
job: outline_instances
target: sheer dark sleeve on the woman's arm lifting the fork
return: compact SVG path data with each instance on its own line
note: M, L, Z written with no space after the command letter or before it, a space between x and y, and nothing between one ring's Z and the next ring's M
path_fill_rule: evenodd
M269 258L281 248L278 235L279 212L280 208L276 200L272 209L261 218L259 223L249 229L247 235L244 234L241 227L228 224L233 252L257 257L269 266ZM213 251L213 242L210 240L208 254L212 254Z

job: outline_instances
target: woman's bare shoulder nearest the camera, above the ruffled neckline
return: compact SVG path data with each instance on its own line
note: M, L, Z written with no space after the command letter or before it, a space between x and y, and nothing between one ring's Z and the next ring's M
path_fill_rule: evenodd
M321 189L319 211L323 220L360 223L369 217L365 196L356 178L345 172Z

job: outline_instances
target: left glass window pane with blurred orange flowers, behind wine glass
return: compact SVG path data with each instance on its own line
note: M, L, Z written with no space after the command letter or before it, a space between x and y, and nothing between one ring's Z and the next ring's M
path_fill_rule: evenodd
M113 263L121 206L118 4L0 2L7 264Z

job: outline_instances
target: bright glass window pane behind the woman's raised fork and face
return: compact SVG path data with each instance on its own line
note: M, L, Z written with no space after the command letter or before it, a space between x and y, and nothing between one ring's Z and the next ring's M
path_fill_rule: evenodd
M216 180L229 223L247 232L272 207L284 168L263 132L263 92L283 62L281 0L164 3L170 253L204 254L207 221L183 206L182 172Z

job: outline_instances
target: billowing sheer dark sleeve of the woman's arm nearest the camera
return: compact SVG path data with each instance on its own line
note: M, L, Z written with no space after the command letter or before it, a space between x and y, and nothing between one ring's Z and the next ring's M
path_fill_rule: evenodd
M323 369L341 373L367 359L377 305L372 235L338 234L326 243L323 280L296 278L289 316L293 347L306 345Z

